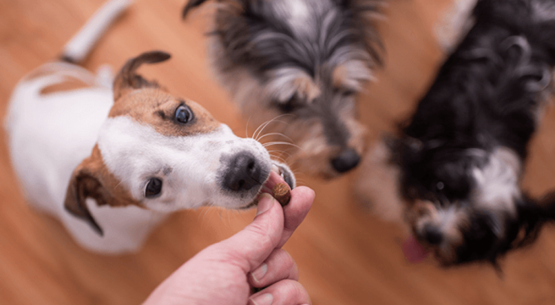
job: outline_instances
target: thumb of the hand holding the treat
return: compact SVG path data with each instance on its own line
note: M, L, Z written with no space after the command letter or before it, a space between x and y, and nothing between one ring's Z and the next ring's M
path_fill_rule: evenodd
M248 273L260 266L277 247L283 228L282 206L271 195L263 193L253 222L231 238L220 242L220 251L230 255Z

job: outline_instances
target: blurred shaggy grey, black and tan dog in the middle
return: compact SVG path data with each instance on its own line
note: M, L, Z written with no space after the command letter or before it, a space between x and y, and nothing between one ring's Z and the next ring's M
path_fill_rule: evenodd
M207 0L191 0L183 10ZM209 54L250 123L296 146L287 162L333 178L366 146L357 93L373 79L380 0L219 0Z

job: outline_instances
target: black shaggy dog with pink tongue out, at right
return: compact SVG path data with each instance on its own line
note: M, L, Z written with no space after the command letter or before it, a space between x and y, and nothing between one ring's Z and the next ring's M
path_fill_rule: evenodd
M357 186L379 200L382 193L368 195L370 183L390 179L412 231L406 255L416 261L430 251L443 266L496 265L555 220L555 196L535 200L520 187L552 93L555 1L479 0L472 18L401 136L375 149L390 163Z

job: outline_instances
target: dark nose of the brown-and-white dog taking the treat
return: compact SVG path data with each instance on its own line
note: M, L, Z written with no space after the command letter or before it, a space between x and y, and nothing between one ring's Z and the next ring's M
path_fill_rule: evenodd
M248 191L261 182L262 168L251 153L242 151L231 158L224 173L224 187L231 191Z

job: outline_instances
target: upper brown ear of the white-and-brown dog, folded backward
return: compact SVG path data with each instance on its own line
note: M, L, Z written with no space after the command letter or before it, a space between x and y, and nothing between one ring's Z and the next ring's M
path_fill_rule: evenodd
M170 55L163 51L151 51L129 59L121 68L114 79L114 101L127 94L127 92L143 87L159 87L154 81L147 81L143 76L136 74L136 70L143 63L160 63L167 61Z

